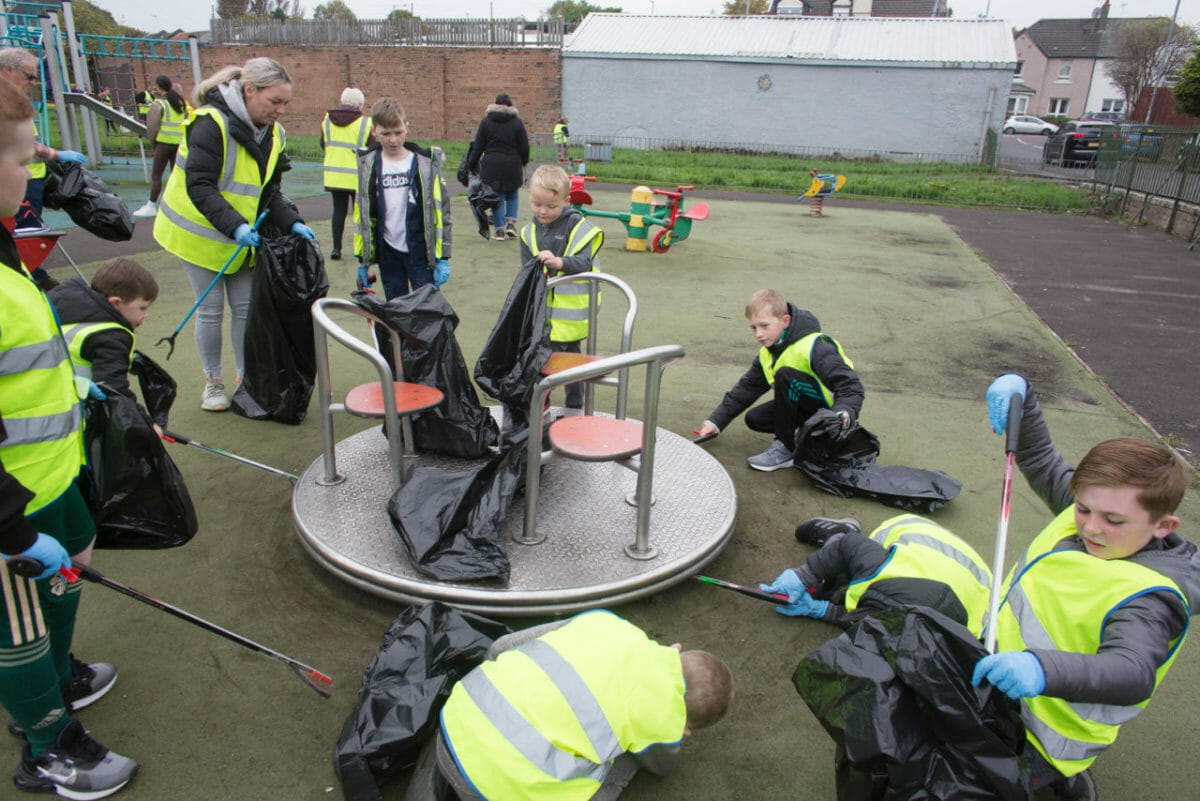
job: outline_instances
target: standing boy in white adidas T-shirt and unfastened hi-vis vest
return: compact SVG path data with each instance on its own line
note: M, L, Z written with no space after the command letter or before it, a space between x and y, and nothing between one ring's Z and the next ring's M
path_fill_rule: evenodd
M426 150L406 141L408 116L395 97L371 107L376 141L358 158L354 195L354 254L359 289L373 281L379 265L384 296L407 295L418 287L450 279L450 194L442 176L440 147Z

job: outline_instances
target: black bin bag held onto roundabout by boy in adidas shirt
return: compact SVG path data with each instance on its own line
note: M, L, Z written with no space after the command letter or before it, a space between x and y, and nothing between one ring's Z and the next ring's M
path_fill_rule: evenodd
M463 459L490 454L499 439L499 427L470 383L470 371L454 333L458 315L445 295L433 284L425 284L389 301L366 291L352 296L400 332L404 380L437 387L445 396L438 405L413 416L416 448ZM391 335L380 330L377 336L379 353L391 365Z

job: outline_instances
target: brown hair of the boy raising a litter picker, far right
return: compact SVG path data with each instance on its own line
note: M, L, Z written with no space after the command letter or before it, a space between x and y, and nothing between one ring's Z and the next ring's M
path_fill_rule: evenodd
M1190 469L1178 453L1134 436L1104 440L1087 452L1070 477L1076 496L1088 487L1135 487L1138 505L1152 520L1178 508L1190 481Z

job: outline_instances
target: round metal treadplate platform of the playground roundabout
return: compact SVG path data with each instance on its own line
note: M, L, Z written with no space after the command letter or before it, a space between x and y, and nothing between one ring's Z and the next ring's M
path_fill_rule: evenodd
M496 410L498 411L498 410ZM319 565L374 595L407 603L440 601L492 615L558 614L611 606L659 592L712 561L728 542L737 510L733 482L690 440L658 429L653 559L634 559L637 474L616 462L554 460L542 468L538 529L546 538L516 542L523 498L512 499L500 534L511 574L499 582L438 582L412 566L388 517L394 486L388 441L372 427L336 445L344 481L323 486L322 459L296 482L296 532ZM414 464L454 469L475 464L419 454Z

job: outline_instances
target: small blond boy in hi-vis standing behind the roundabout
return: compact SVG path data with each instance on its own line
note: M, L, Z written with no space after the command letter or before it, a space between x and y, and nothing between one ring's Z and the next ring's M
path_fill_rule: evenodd
M529 177L533 221L521 229L521 264L536 258L546 276L575 276L596 269L604 231L569 201L571 177L562 167L542 164ZM577 354L588 338L588 282L571 281L550 290L550 347ZM583 385L566 385L566 414L583 410Z

